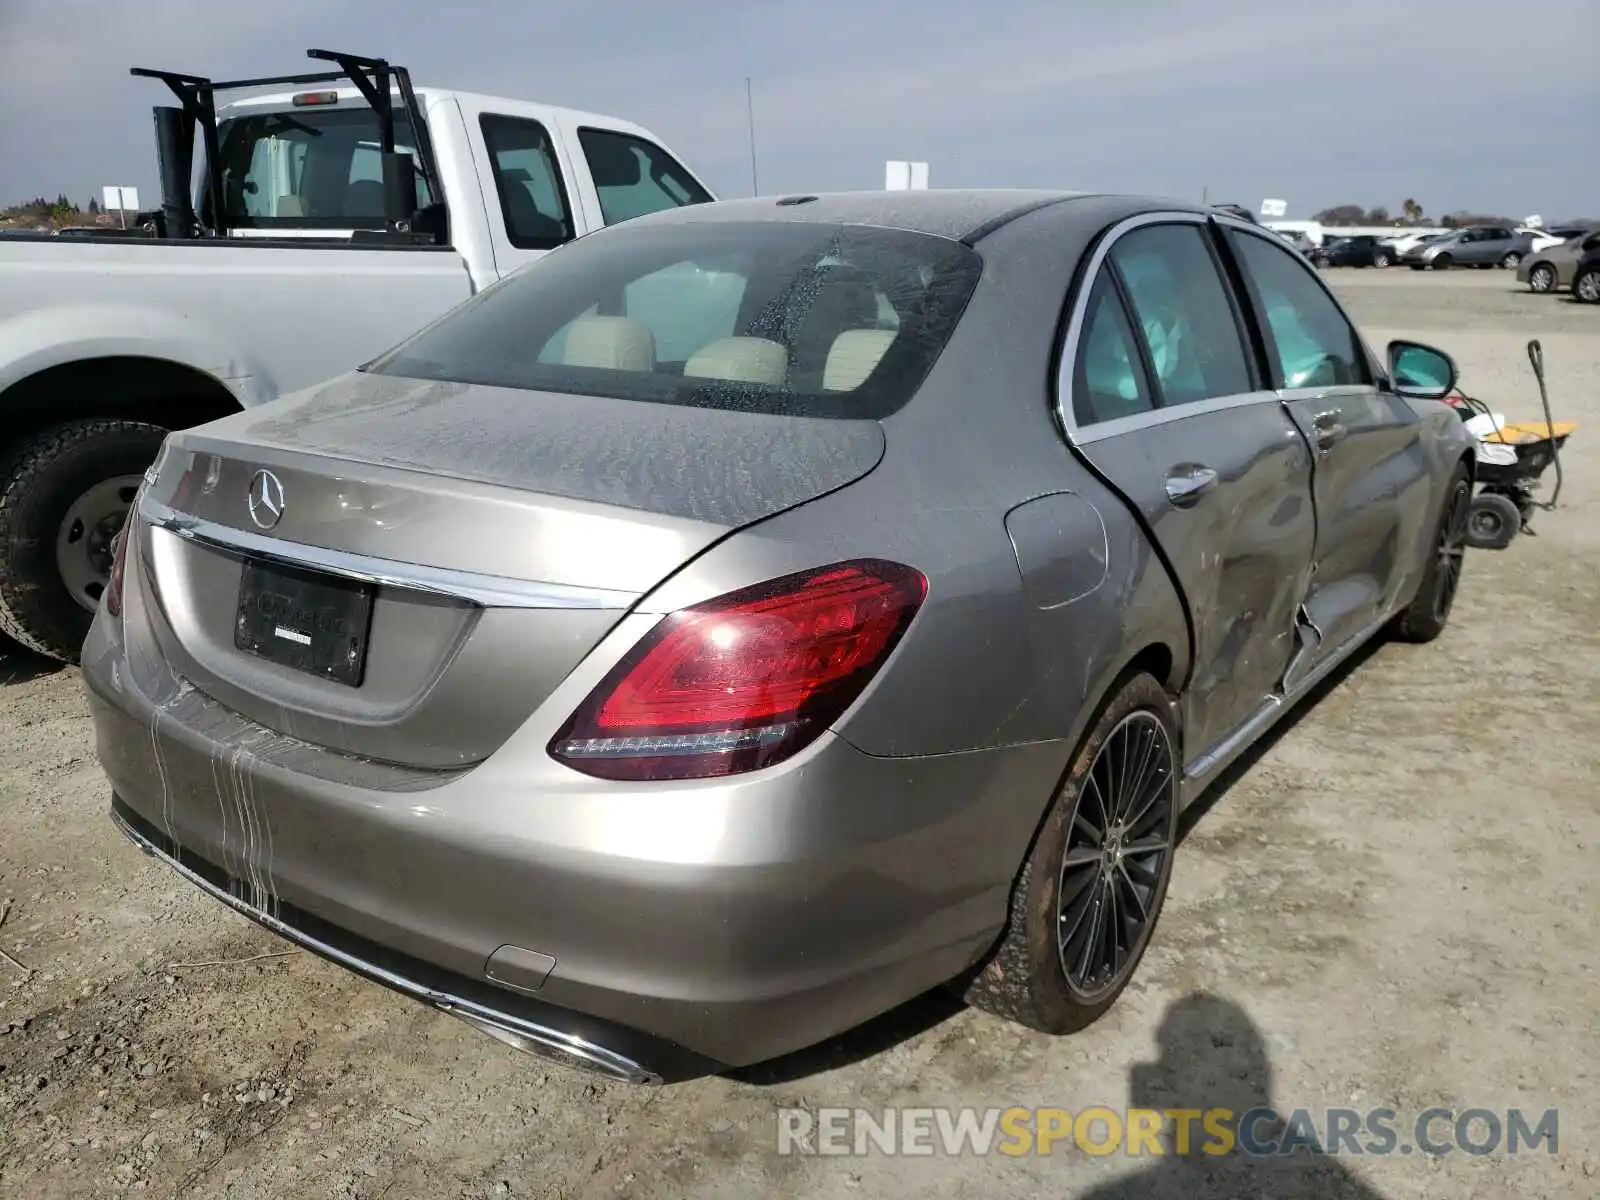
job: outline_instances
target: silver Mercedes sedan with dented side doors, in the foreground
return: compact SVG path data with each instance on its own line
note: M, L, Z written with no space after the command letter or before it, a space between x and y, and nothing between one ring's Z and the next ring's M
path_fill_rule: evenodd
M112 813L618 1078L946 984L1074 1030L1182 806L1363 642L1443 629L1454 374L1179 202L629 221L166 440L83 653Z

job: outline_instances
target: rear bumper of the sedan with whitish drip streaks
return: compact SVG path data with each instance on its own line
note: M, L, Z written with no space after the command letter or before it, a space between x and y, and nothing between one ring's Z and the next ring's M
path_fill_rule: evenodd
M638 789L560 768L534 730L470 771L389 770L155 686L165 667L106 626L83 678L141 846L280 936L618 1078L771 1059L963 971L1066 760L824 736L736 782ZM507 950L515 978L490 962Z

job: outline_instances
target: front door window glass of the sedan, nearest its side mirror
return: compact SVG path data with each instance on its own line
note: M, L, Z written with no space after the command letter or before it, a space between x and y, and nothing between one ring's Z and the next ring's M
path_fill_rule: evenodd
M1368 384L1355 328L1298 259L1259 237L1229 230L1267 325L1277 387Z

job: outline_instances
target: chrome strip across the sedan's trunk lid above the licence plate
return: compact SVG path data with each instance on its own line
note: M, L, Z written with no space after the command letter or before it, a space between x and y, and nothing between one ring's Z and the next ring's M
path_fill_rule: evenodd
M392 587L402 592L422 592L453 600L466 600L483 608L632 608L638 600L635 592L616 592L605 587L578 587L571 584L531 582L499 574L454 571L443 566L400 563L374 558L350 550L330 550L320 546L304 546L282 538L267 538L248 530L235 530L216 522L189 517L146 494L139 501L139 518L157 530L166 530L192 542L208 546L224 554L270 558L290 566L309 566L346 579Z

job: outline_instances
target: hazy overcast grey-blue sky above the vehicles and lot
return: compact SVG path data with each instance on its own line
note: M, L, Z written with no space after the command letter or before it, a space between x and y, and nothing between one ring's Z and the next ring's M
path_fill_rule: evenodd
M1597 0L0 0L0 203L131 184L154 206L130 66L213 78L382 54L419 83L654 130L725 195L1117 189L1291 216L1334 203L1600 218Z

